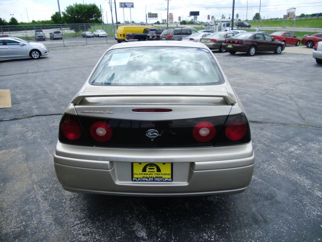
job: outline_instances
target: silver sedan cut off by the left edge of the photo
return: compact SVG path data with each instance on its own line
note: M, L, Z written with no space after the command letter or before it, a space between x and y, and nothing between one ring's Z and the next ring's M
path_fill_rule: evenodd
M39 59L47 55L49 50L45 45L20 41L18 38L0 38L0 59L27 58Z

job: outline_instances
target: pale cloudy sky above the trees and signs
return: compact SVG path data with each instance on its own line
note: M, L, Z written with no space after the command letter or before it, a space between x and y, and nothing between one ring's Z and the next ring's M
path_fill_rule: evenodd
M111 0L112 1L112 0ZM316 0L315 0L316 1ZM234 18L236 14L239 15L241 20L252 19L253 16L260 12L262 18L283 18L286 14L286 10L290 8L296 8L296 15L321 13L322 2L302 1L302 0L235 0ZM131 2L134 4L134 8L123 9L119 7L119 3ZM59 0L60 10L73 5L78 4L96 4L103 9L104 22L111 23L111 11L109 7L109 0ZM261 11L260 11L261 5ZM158 19L147 20L148 23L156 22L157 20L162 22L162 19L167 18L167 0L132 0L132 1L116 1L116 10L118 21L121 23L125 21L145 22L145 13L157 13ZM226 18L231 17L232 13L232 0L170 0L169 1L169 13L173 13L174 21L178 21L178 17L181 20L191 20L189 12L199 11L198 21L207 21L207 16L214 16L215 19L220 19L222 15ZM11 16L14 16L19 22L31 22L32 20L50 20L50 16L58 12L57 0L0 0L0 18L9 22ZM131 13L130 13L131 12ZM27 15L28 13L28 15ZM115 21L115 9L113 0L113 18Z

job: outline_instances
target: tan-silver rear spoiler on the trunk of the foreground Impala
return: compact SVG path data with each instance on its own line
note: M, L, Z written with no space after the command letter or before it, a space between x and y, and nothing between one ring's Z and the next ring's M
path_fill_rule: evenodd
M235 97L228 92L214 92L211 95L194 95L194 94L107 94L106 92L81 92L74 96L71 103L78 105L86 97L221 97L228 104L236 103Z

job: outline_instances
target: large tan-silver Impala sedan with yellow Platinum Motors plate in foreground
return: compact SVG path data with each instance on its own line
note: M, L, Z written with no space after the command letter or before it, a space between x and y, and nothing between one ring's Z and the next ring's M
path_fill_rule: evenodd
M68 104L54 166L71 192L231 194L250 184L254 153L243 105L205 45L137 41L110 47Z

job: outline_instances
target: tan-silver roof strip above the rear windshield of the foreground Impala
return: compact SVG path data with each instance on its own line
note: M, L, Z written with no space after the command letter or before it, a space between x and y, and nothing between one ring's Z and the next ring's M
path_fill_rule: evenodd
M194 47L207 49L206 45L199 42L187 42L187 41L134 41L134 42L122 42L115 44L110 49L130 48L130 47L153 47L153 46L173 46L173 47Z

